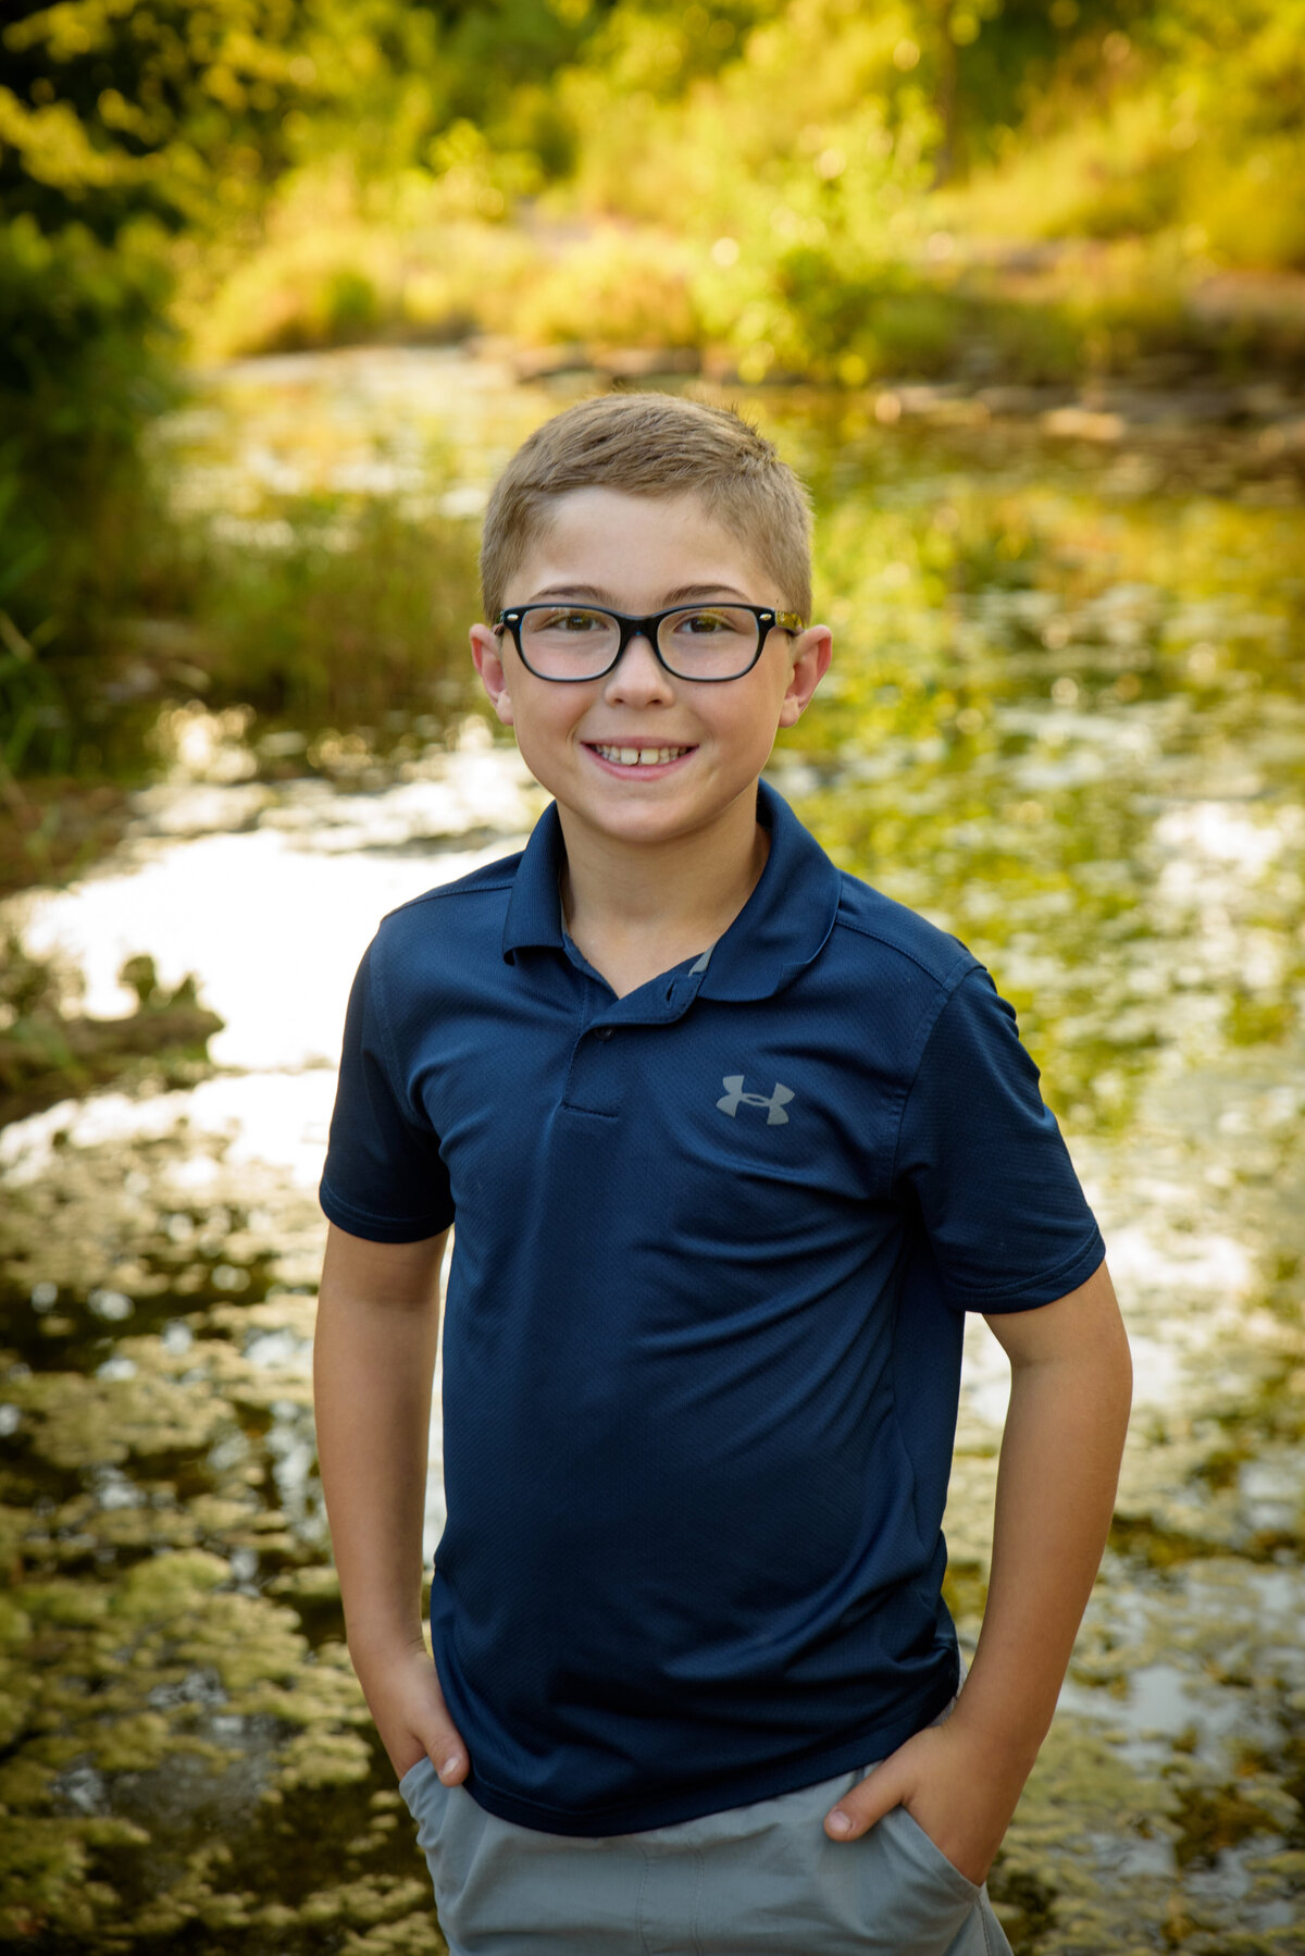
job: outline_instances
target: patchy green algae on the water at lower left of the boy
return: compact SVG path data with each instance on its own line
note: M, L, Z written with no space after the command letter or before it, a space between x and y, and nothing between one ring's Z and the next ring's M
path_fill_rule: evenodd
M427 1956L428 1880L338 1641L319 1490L288 1510L278 1487L313 1326L286 1279L321 1222L282 1187L278 1260L217 1154L211 1201L158 1236L131 1178L153 1189L176 1160L76 1150L0 1219L20 1340L0 1354L0 1942ZM106 1289L129 1309L96 1309Z

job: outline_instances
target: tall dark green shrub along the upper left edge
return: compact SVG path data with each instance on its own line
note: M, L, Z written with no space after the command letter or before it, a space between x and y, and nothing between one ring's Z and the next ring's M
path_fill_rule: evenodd
M67 675L129 597L168 399L168 239L284 162L297 0L10 6L0 33L0 761L65 767ZM307 74L301 76L307 80Z

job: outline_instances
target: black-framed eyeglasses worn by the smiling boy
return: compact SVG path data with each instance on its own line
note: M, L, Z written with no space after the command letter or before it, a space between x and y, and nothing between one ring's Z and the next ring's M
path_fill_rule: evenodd
M536 679L563 685L603 679L632 638L646 638L657 663L675 679L742 679L761 657L767 634L800 632L798 612L765 604L675 604L630 618L593 604L515 604L495 632L511 632L520 663Z

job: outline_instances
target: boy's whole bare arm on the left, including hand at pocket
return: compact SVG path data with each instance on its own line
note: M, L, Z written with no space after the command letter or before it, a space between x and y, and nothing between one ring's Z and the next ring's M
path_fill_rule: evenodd
M368 1242L331 1226L317 1305L317 1459L348 1655L389 1762L423 1753L452 1786L468 1756L421 1625L421 1534L442 1236Z

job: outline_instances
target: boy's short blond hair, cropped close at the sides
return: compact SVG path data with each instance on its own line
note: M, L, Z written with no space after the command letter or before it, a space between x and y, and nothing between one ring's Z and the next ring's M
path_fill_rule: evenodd
M783 606L810 618L810 497L775 444L728 407L673 393L607 393L554 415L503 469L481 536L487 620L503 610L554 505L573 489L698 497L775 579Z

